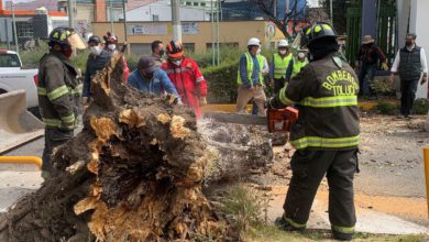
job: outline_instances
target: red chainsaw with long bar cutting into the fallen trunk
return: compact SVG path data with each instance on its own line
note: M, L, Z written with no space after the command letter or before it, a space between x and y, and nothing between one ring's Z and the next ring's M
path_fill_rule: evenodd
M204 117L224 123L267 125L268 132L271 133L289 132L290 125L298 119L298 110L292 107L285 109L268 108L266 117L229 112L205 112Z

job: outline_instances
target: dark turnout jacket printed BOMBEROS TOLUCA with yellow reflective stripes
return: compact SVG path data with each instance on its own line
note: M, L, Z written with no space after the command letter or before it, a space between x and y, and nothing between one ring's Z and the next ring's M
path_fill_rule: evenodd
M297 103L299 118L290 143L309 150L351 150L359 145L358 77L338 53L311 62L289 81L276 99Z

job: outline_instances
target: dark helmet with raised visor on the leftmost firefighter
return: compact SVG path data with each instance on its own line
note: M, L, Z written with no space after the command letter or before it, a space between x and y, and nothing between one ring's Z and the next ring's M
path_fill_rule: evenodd
M85 45L82 38L69 28L56 28L50 33L50 46L59 44L63 46L72 46L78 50L84 50Z

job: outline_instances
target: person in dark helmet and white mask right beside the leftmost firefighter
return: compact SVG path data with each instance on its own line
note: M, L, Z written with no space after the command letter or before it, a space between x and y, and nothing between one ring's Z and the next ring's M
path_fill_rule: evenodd
M97 35L89 37L88 46L90 54L88 56L87 68L85 72L82 105L88 103L88 98L90 97L91 91L92 77L97 74L98 70L105 68L112 57L112 54L102 47L100 37Z

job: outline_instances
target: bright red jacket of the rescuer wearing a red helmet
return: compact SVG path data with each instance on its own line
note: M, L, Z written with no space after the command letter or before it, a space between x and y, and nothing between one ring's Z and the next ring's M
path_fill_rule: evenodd
M197 63L191 58L184 57L180 66L165 62L161 68L167 73L168 78L176 87L182 102L191 108L197 118L200 118L199 98L207 96L207 82Z

